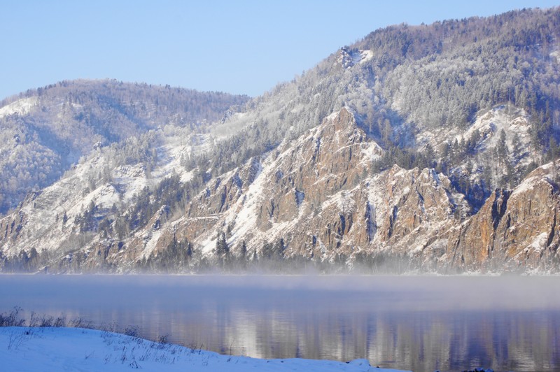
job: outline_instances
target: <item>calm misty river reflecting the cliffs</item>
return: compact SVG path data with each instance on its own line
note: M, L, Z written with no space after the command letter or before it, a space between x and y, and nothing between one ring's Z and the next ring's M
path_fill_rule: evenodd
M560 277L0 276L21 306L251 357L560 369Z

